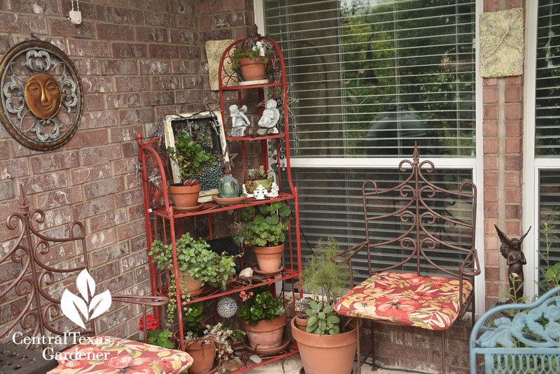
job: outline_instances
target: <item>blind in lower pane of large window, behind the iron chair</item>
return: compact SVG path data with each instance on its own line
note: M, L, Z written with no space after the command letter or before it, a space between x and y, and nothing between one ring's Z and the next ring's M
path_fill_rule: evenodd
M362 184L366 179L377 182L380 190L393 187L402 182L406 173L399 173L397 168L370 169L335 169L325 172L318 168L297 168L292 171L295 184L300 194L300 225L302 236L302 258L307 261L319 239L326 240L332 236L337 239L341 249L346 249L365 240L365 224L363 216ZM285 180L285 178L284 178ZM472 180L472 171L435 171L428 175L428 180L451 191L457 191L465 180ZM467 192L467 191L465 191ZM393 212L408 200L403 199L399 192L379 199L368 201L369 215L384 215ZM429 206L444 217L455 217L457 220L472 224L472 204L467 201L452 203L449 196L436 194L433 199L426 199ZM412 208L411 208L412 209ZM422 213L422 212L421 212ZM294 224L292 222L292 224ZM370 240L380 243L396 238L409 228L410 224L400 221L400 217L391 217L375 224L370 224ZM295 226L293 226L295 227ZM444 241L452 240L465 248L470 248L470 233L459 226L436 221L428 224L430 233ZM414 232L410 234L414 238ZM292 231L295 240L295 230ZM307 242L306 243L306 239ZM309 244L309 245L308 245ZM426 249L426 248L425 248ZM465 258L465 253L445 247L426 250L430 259L449 271L458 271L458 266ZM383 268L406 259L411 250L403 250L399 243L393 243L375 249L372 257L374 268ZM367 275L367 253L356 257L355 268L361 278ZM415 272L415 261L404 266L402 271ZM423 272L440 274L422 259Z

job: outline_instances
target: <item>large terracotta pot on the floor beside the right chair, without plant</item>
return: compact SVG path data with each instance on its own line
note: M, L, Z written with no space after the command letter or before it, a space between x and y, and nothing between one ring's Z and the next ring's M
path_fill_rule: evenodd
M295 326L292 319L292 336L297 342L305 374L351 373L356 356L356 328L337 335L316 335Z

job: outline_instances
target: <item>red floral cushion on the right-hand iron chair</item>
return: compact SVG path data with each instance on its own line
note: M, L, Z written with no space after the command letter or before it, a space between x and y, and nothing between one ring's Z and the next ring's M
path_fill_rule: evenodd
M446 330L460 309L459 280L410 273L377 273L344 295L335 310L339 315ZM463 301L472 292L463 280Z

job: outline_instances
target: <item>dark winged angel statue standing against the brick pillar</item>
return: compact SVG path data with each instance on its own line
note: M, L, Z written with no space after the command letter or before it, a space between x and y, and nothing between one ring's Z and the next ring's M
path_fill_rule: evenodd
M525 255L521 251L521 243L529 231L531 231L531 226L529 226L524 236L521 236L519 239L507 238L505 233L498 229L498 226L494 225L494 227L496 227L496 232L502 243L502 245L500 245L500 252L507 261L507 280L510 284L510 294L513 294L515 300L519 302L523 297L523 284L525 279L523 266L527 263ZM512 300L510 299L507 302L511 303Z

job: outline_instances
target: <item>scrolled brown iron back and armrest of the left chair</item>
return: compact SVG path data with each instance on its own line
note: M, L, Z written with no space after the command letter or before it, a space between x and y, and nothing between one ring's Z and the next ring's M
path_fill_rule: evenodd
M11 213L6 219L8 230L16 231L15 243L0 258L0 268L10 274L0 285L0 305L3 305L0 340L16 343L19 348L27 350L48 348L49 352L60 352L76 344L76 339L72 337L76 336L76 332L83 337L96 335L94 320L86 321L85 329L78 330L70 319L64 317L61 307L62 289L75 292L78 273L88 269L84 226L74 221L68 226L68 236L51 238L36 229L36 225L45 223L45 213L29 208L22 186L19 206L20 211ZM66 258L57 257L60 254ZM89 292L85 291L87 305L92 301L92 287L92 283L88 282ZM80 289L80 294L83 294L83 289ZM140 306L144 312L146 342L148 309L163 308L169 299L165 296L113 294L112 305L115 302ZM18 341L14 340L14 336L18 336ZM57 336L65 338L57 339Z

